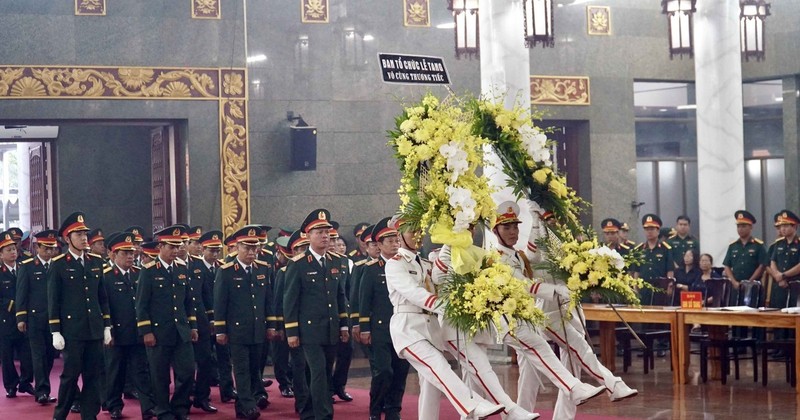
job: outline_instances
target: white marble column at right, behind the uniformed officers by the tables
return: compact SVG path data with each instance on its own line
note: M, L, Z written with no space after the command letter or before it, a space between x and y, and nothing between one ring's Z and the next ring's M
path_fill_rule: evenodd
M719 266L745 207L739 1L697 2L694 25L701 252Z

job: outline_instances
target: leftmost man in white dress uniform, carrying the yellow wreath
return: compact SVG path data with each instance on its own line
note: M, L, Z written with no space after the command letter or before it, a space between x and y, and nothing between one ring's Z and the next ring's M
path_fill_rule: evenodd
M428 276L430 263L416 254L419 233L404 232L401 226L397 227L401 231L401 248L386 263L386 286L389 300L394 306L389 329L395 351L408 360L420 378L441 391L461 416L484 418L503 411L502 405L471 395L469 388L451 370L447 359L437 348L440 332L435 314L444 309L439 306L439 299ZM427 386L421 387L421 393L427 393L427 390ZM434 412L429 411L428 405L423 405L428 397L420 395L419 416L423 419L437 418L438 407Z

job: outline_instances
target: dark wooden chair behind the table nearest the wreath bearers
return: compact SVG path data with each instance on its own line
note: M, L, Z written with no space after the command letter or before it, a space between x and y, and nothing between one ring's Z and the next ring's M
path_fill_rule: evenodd
M643 305L651 306L670 306L672 305L673 295L675 294L675 279L671 277L660 277L653 281L653 286L661 289L660 292L654 292L650 296L649 302L642 302ZM628 367L632 364L631 360L631 340L633 334L626 327L616 329L617 342L622 346L622 371L628 372ZM650 369L655 368L655 356L653 353L653 346L657 339L666 338L670 342L670 351L672 351L670 337L672 335L669 328L664 328L662 324L655 324L649 328L639 328L636 330L636 335L642 339L644 348L642 349L642 358L644 362L644 373L650 372Z

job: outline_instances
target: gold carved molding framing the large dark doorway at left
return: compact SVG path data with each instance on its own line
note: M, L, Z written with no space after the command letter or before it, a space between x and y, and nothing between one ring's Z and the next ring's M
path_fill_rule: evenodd
M17 99L218 101L222 230L250 222L245 69L0 65L0 100Z

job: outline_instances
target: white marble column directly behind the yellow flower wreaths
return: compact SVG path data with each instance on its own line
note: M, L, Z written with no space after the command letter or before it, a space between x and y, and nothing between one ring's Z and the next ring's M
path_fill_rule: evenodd
M531 107L530 54L525 48L525 30L522 19L522 2L519 0L481 0L478 15L481 46L481 94L485 98L502 100L505 107L514 105L524 109ZM493 185L505 186L506 175L501 171L486 171ZM497 204L514 201L510 188L502 188L494 194ZM522 200L524 201L524 200ZM527 205L520 203L522 225L519 243L528 240L531 218ZM491 233L486 235L494 240Z

